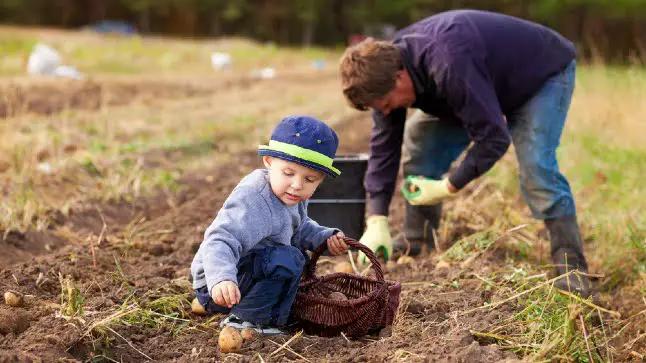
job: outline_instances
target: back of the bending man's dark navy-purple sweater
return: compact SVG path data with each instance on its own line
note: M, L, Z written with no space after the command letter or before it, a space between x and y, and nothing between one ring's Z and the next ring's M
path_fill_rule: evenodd
M430 16L397 32L393 42L418 81L432 74L440 94L456 78L451 73L482 72L503 112L522 105L576 55L572 42L552 29L479 10Z

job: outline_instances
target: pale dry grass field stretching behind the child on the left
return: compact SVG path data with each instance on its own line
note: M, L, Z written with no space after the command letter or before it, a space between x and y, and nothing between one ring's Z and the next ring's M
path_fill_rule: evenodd
M95 39L87 34L81 39L85 37L123 47L120 42L131 42ZM148 41L140 47L212 48L209 42L166 44L153 39L148 45ZM256 61L265 57L265 46L242 43L255 54ZM116 61L127 62L139 50L125 49L129 50L125 58L117 57ZM16 116L0 125L0 164L4 165L0 185L6 201L0 230L45 228L53 211L66 215L87 200L129 200L159 188L174 192L186 171L214 159L224 161L248 148L249 143L264 142L273 124L287 114L308 113L335 122L349 112L339 107L343 101L333 92L336 78L332 69L310 69L307 54L279 49L272 54L276 57L266 57L263 62L278 62L275 80L253 79L245 69L213 75L212 70L198 67L195 74L208 75L185 76L181 81L183 87L200 89L198 94L156 97L154 92L159 89L137 90L137 82L154 79L154 86L170 89L178 86L177 78L166 83L157 75L146 77L145 72L134 81L100 77L92 81L102 87L102 101L95 110L68 107L51 116L16 111ZM95 56L101 58L100 54ZM44 82L63 93L70 85ZM111 100L120 97L116 92L124 84L134 87L134 97L115 105Z

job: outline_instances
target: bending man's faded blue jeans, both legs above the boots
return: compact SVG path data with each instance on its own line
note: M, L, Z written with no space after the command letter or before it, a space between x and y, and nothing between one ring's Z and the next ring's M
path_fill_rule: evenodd
M576 215L570 185L556 160L575 71L576 62L572 61L547 79L524 105L506 115L520 169L521 192L537 219ZM404 130L404 175L441 179L469 144L461 125L417 111L406 121Z

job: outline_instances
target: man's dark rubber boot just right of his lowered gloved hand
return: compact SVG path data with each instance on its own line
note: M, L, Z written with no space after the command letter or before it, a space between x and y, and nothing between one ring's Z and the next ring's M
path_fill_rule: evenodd
M398 255L417 256L422 251L435 248L433 230L437 230L442 216L442 204L414 206L406 202L404 232L393 240L393 250Z

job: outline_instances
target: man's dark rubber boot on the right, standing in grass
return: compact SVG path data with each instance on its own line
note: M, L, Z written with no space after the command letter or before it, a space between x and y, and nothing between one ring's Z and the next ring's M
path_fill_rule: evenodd
M546 219L545 226L550 234L552 262L556 266L557 275L572 270L587 273L588 264L583 255L583 243L576 216ZM590 279L576 272L556 280L554 287L583 297L591 294Z

